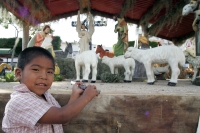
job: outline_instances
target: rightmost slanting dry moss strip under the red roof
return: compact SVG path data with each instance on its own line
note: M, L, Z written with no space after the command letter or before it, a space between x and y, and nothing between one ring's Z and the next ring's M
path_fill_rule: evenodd
M173 28L173 26L178 23L177 21L179 18L182 17L182 9L186 4L186 0L181 0L177 3L166 15L161 17L156 23L148 28L148 33L150 35L157 35L166 24L170 26L170 28Z

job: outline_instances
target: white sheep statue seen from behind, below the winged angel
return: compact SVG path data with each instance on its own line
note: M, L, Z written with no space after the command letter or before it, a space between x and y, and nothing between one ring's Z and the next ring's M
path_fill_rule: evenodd
M82 82L88 82L90 74L90 66L92 67L92 79L91 83L96 82L98 58L95 51L88 50L83 51L81 54L76 55L75 67L76 67L76 81L80 81L80 68L82 67L83 79Z

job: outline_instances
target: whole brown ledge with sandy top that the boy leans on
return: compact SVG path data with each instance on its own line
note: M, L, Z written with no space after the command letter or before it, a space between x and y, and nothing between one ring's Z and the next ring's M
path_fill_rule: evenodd
M102 93L63 126L65 132L117 133L119 129L119 133L196 133L200 89L190 81L179 81L176 87L168 87L167 81L158 81L153 86L143 82L97 83L96 86ZM61 106L65 105L71 93L70 83L55 83L52 87L55 87L50 90L52 95ZM1 120L11 92L0 93Z

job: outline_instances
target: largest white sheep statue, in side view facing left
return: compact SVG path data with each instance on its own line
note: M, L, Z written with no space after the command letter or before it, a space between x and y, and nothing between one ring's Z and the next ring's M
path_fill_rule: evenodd
M184 66L185 55L183 51L177 46L161 46L152 49L136 49L129 47L124 54L125 58L133 58L144 64L146 69L146 75L148 79L148 84L153 85L155 82L153 64L164 64L168 63L172 69L172 76L168 83L169 86L175 86L177 83L178 75L180 70L178 64Z

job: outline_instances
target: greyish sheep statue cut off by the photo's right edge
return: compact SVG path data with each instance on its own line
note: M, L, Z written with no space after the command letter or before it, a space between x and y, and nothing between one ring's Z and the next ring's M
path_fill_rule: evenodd
M200 76L200 74L197 76L197 73L200 72L200 56L194 56L194 52L195 47L186 48L186 50L184 51L187 62L190 63L194 68L192 82L194 82L194 80Z

